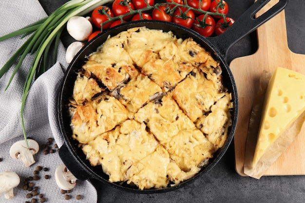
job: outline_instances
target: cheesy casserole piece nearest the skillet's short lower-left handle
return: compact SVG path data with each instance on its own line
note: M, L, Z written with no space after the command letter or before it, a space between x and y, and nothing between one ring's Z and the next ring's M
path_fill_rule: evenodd
M126 181L126 172L133 164L155 151L158 142L146 126L127 120L85 145L82 150L93 166L102 165L109 181ZM165 177L166 178L166 177Z

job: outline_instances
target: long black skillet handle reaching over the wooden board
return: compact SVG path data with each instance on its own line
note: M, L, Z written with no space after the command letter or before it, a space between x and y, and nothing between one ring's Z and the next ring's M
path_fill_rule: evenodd
M248 10L242 14L222 35L209 37L209 41L215 45L220 54L227 60L229 48L264 24L269 19L280 13L286 6L288 0L280 0L264 14L255 18L255 14L263 8L270 0L257 0Z

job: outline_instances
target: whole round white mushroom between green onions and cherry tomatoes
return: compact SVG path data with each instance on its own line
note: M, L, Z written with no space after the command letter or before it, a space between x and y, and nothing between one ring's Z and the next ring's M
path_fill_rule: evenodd
M93 30L89 19L82 16L74 16L67 22L67 31L77 41L85 41Z

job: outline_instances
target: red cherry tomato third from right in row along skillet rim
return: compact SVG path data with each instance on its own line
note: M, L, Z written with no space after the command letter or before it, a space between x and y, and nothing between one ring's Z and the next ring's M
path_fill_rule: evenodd
M191 28L195 19L195 14L192 10L187 11L187 8L179 7L173 12L172 22Z

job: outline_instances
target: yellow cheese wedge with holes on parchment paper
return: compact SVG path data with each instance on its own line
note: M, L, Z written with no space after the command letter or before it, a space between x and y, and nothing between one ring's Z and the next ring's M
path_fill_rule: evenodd
M253 167L272 143L305 111L305 75L277 68L265 94Z

